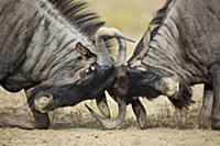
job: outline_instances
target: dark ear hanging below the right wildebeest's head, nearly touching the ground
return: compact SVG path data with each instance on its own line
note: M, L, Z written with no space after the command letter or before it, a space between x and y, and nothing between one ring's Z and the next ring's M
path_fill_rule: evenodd
M131 102L131 105L132 105L133 112L136 116L140 127L144 128L146 125L146 111L145 111L144 106L142 105L142 103L139 99L133 100Z

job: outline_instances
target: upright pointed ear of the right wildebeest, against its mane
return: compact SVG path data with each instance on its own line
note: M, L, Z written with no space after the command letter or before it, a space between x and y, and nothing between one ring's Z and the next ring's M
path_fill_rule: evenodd
M133 54L132 58L130 59L130 61L136 60L136 59L142 59L145 56L145 54L148 50L150 41L151 41L151 30L147 29L147 31L144 33L141 41L136 45L134 54Z

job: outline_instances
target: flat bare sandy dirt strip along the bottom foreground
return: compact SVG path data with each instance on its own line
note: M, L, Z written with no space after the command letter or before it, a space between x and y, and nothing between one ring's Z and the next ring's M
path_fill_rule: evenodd
M220 133L200 130L148 128L102 131L68 128L47 131L0 130L0 145L6 146L160 146L160 145L220 145Z

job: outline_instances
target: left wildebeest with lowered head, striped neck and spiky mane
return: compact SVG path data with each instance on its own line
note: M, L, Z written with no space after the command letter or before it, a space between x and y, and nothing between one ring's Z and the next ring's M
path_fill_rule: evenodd
M36 128L50 126L48 111L92 99L112 85L107 40L118 40L118 61L123 59L123 35L85 9L73 0L0 1L0 85L25 90Z

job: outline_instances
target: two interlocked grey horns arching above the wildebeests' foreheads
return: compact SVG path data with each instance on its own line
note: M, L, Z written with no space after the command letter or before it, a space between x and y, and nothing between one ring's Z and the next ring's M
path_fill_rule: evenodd
M98 52L97 63L99 65L109 66L112 64L110 55L108 53L105 38L106 37L116 37L119 43L119 53L117 57L116 65L122 65L127 60L127 42L134 42L130 38L127 38L119 30L114 27L100 27L96 34L96 47ZM103 49L105 48L105 49Z

